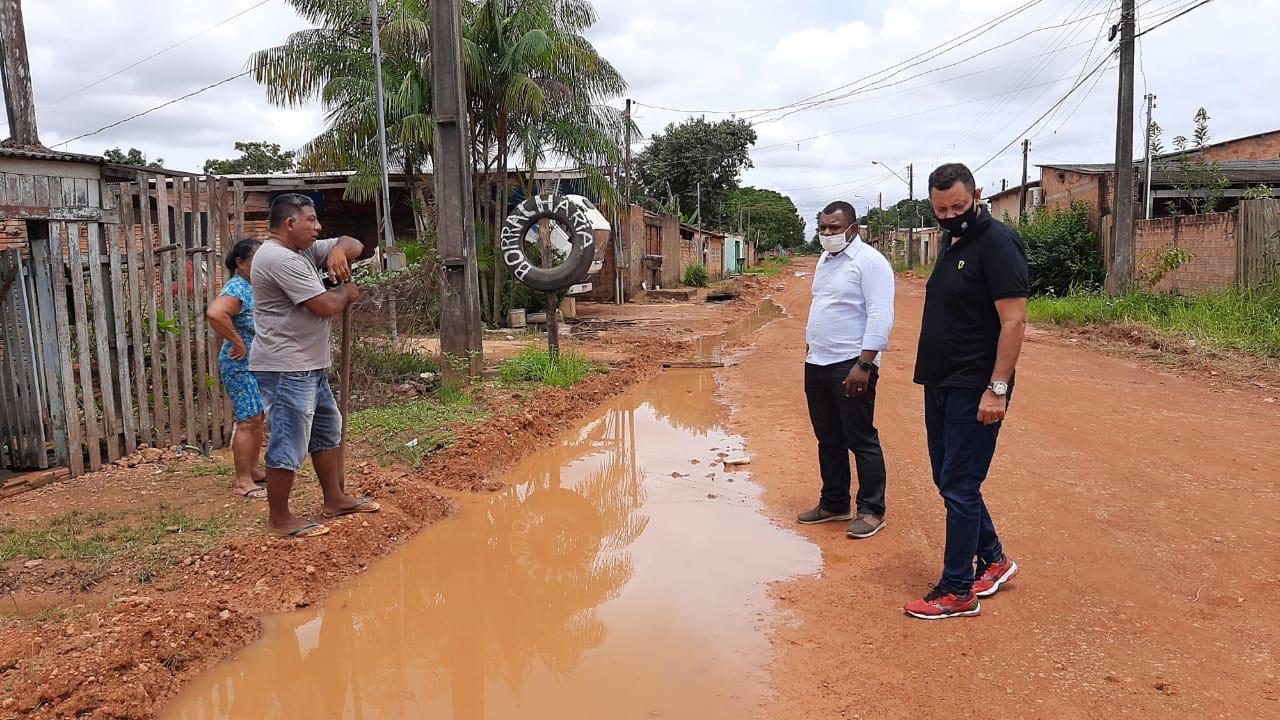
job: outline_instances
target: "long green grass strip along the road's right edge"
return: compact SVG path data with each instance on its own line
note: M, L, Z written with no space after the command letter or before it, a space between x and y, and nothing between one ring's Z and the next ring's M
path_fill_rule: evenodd
M1219 350L1280 357L1280 290L1228 288L1199 295L1130 291L1120 297L1036 297L1028 315L1059 325L1137 323Z

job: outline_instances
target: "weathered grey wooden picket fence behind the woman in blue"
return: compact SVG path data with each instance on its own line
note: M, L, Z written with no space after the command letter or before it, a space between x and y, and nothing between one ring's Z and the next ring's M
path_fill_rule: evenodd
M119 222L55 219L31 236L29 263L14 251L0 261L0 287L6 269L23 278L0 296L9 465L47 468L52 452L78 475L142 443L230 441L221 341L205 319L232 229L243 225L230 190L220 178L150 173L104 184L102 217Z

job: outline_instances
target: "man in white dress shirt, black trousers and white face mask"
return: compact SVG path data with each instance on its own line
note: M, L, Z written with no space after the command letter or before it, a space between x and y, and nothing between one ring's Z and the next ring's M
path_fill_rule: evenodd
M832 202L818 215L818 234L823 254L813 277L804 391L818 437L822 495L796 520L852 520L845 534L869 538L884 528L884 454L874 419L881 354L893 328L893 268L858 238L858 214L849 202ZM856 503L850 498L850 452Z

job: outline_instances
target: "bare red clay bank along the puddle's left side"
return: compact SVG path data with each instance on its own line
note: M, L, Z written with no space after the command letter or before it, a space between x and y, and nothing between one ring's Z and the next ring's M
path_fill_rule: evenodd
M689 348L687 338L719 331L755 306L765 283L749 279L732 304L645 307L669 320L652 328L627 327L572 343L614 359L608 373L577 386L541 388L525 402L489 420L458 428L458 441L430 456L420 470L380 468L353 447L348 492L375 496L383 511L330 521L321 538L285 541L261 530L265 505L227 495L225 478L195 478L188 460L113 468L28 492L0 506L4 523L47 519L69 510L111 511L138 503L169 503L193 511L230 506L243 527L220 546L195 553L150 584L127 574L105 573L92 587L77 588L76 568L46 562L4 570L0 602L14 589L41 616L23 614L0 625L0 719L150 717L180 685L204 669L255 641L260 615L316 603L339 583L366 570L411 536L454 510L451 491L495 489L493 478L541 447L605 398L657 373L660 361ZM588 313L608 319L636 306L598 306ZM681 337L685 340L672 340ZM500 410L500 409L498 409ZM165 469L172 471L165 471ZM159 471L157 471L159 469ZM312 483L314 484L314 483ZM300 493L297 510L319 515L319 496ZM237 505L239 503L239 505ZM38 592L37 592L38 591Z

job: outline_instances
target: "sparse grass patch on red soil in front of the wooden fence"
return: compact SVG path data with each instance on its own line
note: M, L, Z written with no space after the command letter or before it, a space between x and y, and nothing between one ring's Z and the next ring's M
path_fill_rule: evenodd
M165 506L138 512L73 511L41 525L0 528L0 562L14 559L84 561L83 584L92 585L116 559L142 559L148 553L155 559L175 546L204 550L230 529L229 516L200 519Z

